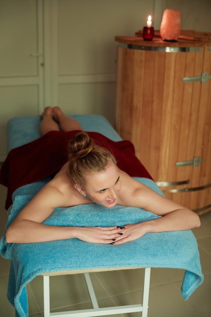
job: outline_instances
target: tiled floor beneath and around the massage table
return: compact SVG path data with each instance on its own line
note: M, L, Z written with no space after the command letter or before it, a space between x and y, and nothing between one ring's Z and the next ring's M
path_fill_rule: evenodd
M0 235L7 221L6 188L0 185ZM211 212L201 216L201 227L193 230L199 246L204 283L185 301L180 293L183 270L152 269L148 317L210 317L211 313ZM15 317L7 300L10 261L0 257L0 316ZM138 304L142 301L143 269L92 273L100 306ZM51 283L52 311L91 308L83 275L54 276ZM74 286L74 287L73 287ZM43 316L43 280L28 285L29 316ZM116 315L120 316L120 315ZM124 314L138 317L141 313Z

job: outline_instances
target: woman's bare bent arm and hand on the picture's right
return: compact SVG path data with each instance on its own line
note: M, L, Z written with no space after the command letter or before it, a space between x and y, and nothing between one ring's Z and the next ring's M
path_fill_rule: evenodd
M126 224L115 245L136 240L148 232L181 231L200 226L199 216L193 211L166 199L143 184L135 187L132 185L130 200L133 207L143 208L161 217Z

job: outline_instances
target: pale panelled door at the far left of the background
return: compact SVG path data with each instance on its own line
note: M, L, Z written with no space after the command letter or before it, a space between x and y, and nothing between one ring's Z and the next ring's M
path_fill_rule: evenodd
M43 105L41 0L0 2L0 161L7 154L7 122L40 113Z

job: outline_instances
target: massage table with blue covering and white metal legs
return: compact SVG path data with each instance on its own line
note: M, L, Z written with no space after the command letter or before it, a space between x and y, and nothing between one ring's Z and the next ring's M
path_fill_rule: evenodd
M114 141L121 140L110 123L101 115L71 115L71 117L75 118L85 131L99 132ZM39 125L39 116L12 118L8 123L8 151L40 137ZM162 194L152 180L146 178L137 178L137 180ZM30 201L31 197L48 181L49 179L44 179L22 186L13 193L13 204L9 209L8 225L23 206ZM100 223L103 226L110 226L115 225L114 223L123 225L157 217L152 213L137 208L115 206L112 210L108 210L96 204L90 204L90 210L88 210L87 205L86 209L83 207L57 208L45 223L61 225L62 222L65 222L66 225L78 226L96 226ZM60 218L61 214L62 219ZM75 219L77 219L77 223L75 223ZM40 252L42 248L44 255ZM180 250L179 255L175 254L176 248ZM116 252L117 249L118 252ZM46 254L47 250L48 253ZM62 253L61 250L63 250ZM0 252L3 257L11 259L8 298L15 306L18 317L28 316L26 285L37 275L44 276L45 317L88 317L126 312L142 312L142 317L147 317L150 267L184 269L181 293L185 300L203 282L198 247L190 230L148 233L137 241L121 246L94 245L77 239L15 245L7 244L3 236L0 243ZM89 273L135 268L144 268L145 270L142 304L99 308ZM85 275L93 308L78 311L50 312L50 276L78 273Z

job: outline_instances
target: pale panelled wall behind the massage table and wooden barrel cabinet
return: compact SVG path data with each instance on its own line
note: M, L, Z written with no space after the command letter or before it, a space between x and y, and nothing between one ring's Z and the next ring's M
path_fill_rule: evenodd
M0 161L13 116L59 105L114 124L114 37L149 14L159 29L165 8L181 10L183 29L211 31L210 0L0 0Z

